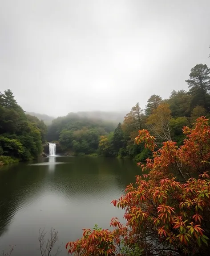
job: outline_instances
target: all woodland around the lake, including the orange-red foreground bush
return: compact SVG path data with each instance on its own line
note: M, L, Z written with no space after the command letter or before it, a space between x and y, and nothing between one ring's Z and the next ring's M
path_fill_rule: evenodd
M69 254L209 255L209 67L193 67L186 83L188 91L173 90L168 99L153 94L145 109L137 103L117 127L77 113L46 126L11 90L0 93L0 164L36 159L48 141L72 155L135 159L143 171L112 201L125 211L125 224L112 218L111 230L84 229L66 244Z

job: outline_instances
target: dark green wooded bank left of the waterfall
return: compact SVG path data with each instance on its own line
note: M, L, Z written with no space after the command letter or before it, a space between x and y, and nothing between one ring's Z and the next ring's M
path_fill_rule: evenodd
M44 122L26 115L11 90L0 92L0 164L37 158L46 132Z

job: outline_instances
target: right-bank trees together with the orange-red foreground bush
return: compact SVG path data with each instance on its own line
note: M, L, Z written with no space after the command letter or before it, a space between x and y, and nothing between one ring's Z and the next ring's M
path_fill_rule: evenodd
M196 65L189 91L137 103L114 132L100 137L99 154L134 157L141 176L111 203L124 221L111 229L84 228L69 241L70 255L209 256L210 70ZM150 156L144 163L146 156Z

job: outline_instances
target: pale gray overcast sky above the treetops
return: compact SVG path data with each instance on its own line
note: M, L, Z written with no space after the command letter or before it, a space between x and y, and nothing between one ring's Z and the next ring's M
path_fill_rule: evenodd
M0 91L52 116L144 108L209 45L209 0L0 0Z

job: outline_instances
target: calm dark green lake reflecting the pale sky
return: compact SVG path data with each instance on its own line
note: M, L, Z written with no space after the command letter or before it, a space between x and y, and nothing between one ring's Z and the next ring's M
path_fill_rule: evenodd
M12 256L39 256L39 230L51 227L65 244L82 228L109 228L124 211L110 202L141 173L136 162L102 157L48 157L0 168L0 252L16 245Z

